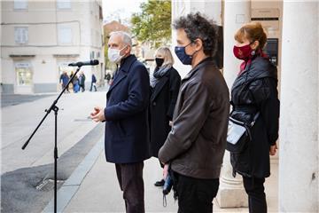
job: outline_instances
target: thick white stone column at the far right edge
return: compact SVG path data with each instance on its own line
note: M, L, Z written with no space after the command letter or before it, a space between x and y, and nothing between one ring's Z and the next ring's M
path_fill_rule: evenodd
M319 3L284 1L279 211L318 212Z

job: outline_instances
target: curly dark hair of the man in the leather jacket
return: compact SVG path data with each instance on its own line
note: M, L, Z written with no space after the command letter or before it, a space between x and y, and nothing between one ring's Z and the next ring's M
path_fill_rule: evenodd
M190 13L175 20L173 26L175 29L183 28L191 42L199 38L203 42L204 53L214 56L217 49L218 31L213 20L206 19L199 12Z

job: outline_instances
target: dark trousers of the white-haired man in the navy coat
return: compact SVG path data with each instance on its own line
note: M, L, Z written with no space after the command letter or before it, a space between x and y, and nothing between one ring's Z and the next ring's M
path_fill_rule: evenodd
M144 162L115 164L127 213L144 213Z

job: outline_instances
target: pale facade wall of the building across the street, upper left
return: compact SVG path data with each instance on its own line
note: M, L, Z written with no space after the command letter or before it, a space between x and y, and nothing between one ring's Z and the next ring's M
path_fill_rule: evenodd
M60 72L66 68L71 71L66 67L67 63L94 58L104 64L99 15L101 1L70 1L69 9L58 9L57 4L56 1L27 1L26 10L15 10L13 1L1 2L1 29L4 32L1 37L2 92L59 91ZM15 43L15 28L19 27L28 28L25 44ZM60 30L65 33L59 34ZM69 34L71 38L66 39ZM25 62L29 62L32 71L32 85L28 88L17 85L17 64ZM62 69L59 68L61 64L64 64ZM104 77L101 72L104 65L82 67L82 70L88 85L92 73L97 76L97 81Z

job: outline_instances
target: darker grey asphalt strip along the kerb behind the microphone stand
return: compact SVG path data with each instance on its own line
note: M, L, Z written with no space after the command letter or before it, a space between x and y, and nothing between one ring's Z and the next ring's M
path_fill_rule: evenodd
M81 141L58 158L58 187L72 174L90 149L103 137L98 124ZM41 212L54 192L54 164L23 168L1 177L1 212Z

